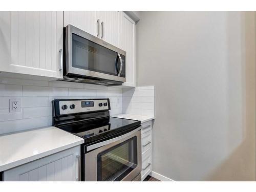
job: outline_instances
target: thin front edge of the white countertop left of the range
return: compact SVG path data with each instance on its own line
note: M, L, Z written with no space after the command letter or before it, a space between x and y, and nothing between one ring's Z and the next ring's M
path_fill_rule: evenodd
M24 159L20 159L20 160L14 161L14 162L10 162L8 164L0 165L0 172L3 172L5 170L11 169L11 168L14 168L14 167L19 166L19 165L23 165L23 164L35 161L35 160L40 159L40 158L47 157L49 155L52 155L52 154L55 154L55 153L58 153L58 152L61 152L61 151L64 151L64 150L67 150L68 148L72 148L72 147L80 145L82 143L84 143L84 140L81 138L81 140L79 140L79 141L69 143L67 145L60 146L60 147L54 148L52 150L49 150L49 151L46 151L46 152L43 152L43 153L40 153L40 154L36 154L36 155L30 156L30 157L27 157L27 158L24 158Z

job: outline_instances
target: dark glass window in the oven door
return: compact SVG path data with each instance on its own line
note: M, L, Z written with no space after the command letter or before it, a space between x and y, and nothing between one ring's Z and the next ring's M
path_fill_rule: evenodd
M133 137L97 155L97 181L121 181L137 164L137 137Z

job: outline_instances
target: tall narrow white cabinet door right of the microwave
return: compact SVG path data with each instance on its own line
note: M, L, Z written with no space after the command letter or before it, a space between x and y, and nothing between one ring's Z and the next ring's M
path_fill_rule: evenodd
M123 86L136 87L135 22L124 12L120 16L120 49L126 51L126 82Z

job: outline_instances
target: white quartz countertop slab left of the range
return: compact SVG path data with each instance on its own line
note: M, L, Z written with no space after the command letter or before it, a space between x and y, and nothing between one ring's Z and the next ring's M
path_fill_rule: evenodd
M84 139L54 126L0 136L0 172L52 155Z

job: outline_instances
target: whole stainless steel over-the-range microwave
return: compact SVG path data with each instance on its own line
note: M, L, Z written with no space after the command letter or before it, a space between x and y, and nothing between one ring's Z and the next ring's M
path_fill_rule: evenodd
M125 82L126 52L75 26L65 30L65 81L120 85Z

